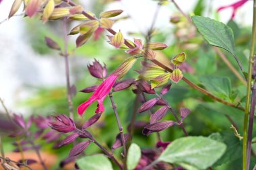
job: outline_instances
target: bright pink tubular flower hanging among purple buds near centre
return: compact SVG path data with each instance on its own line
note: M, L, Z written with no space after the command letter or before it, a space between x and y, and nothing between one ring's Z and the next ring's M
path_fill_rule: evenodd
M103 101L108 95L110 89L113 87L115 81L117 80L117 77L119 75L109 75L108 78L106 78L103 83L94 91L94 93L91 95L91 97L84 103L78 106L77 112L80 116L84 114L84 111L94 103L94 101L98 101L98 108L95 110L97 114L104 112L104 105Z

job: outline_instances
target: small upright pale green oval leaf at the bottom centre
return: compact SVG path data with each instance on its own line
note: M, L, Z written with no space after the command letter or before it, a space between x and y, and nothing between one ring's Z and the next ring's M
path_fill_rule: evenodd
M139 146L135 143L132 143L129 147L129 151L127 154L127 168L128 170L135 169L137 164L139 163L139 159L141 158L141 150Z

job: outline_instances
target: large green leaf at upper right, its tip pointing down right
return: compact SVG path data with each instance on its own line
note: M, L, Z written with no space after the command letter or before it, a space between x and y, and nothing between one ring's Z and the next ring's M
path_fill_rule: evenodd
M222 22L217 22L209 17L195 15L191 18L197 27L197 30L209 44L224 48L233 54L233 56L236 56L234 52L234 34L231 28Z

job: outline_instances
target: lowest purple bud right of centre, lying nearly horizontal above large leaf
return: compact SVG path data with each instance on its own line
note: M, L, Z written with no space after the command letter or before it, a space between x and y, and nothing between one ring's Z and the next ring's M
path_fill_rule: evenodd
M170 121L170 120L166 120L163 122L157 122L154 124L148 124L147 126L144 127L142 134L144 135L149 135L152 132L160 132L174 124L177 124L176 122Z

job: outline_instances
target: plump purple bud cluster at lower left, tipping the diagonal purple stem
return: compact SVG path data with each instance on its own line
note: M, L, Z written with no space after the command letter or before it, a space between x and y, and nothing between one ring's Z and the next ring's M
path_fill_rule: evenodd
M53 117L55 118L56 122L49 122L49 126L52 129L63 133L72 132L73 130L76 129L73 120L65 116L65 114Z

